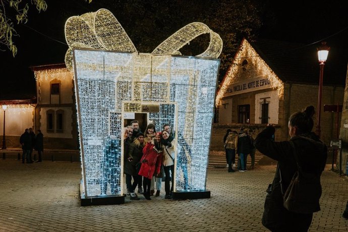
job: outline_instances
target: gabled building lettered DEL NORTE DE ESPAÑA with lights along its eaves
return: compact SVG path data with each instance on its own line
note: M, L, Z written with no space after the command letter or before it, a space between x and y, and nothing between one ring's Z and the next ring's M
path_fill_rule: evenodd
M222 139L227 129L241 127L255 137L267 124L273 124L275 139L288 140L290 115L308 105L317 108L319 65L315 53L310 59L302 54L297 57L303 60L295 60L292 57L295 53L281 52L298 46L270 40L242 41L217 92L212 150L223 150ZM325 75L330 78L335 73L328 71ZM342 104L343 94L344 83L324 82L322 104ZM337 131L335 115L326 112L321 115L321 137L329 144Z

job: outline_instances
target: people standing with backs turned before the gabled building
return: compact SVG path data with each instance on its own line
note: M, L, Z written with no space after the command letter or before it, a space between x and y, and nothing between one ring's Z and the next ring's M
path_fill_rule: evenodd
M247 170L247 155L250 154L251 165L249 169L253 169L255 165L255 151L254 139L248 132L241 128L240 132L227 130L226 135L223 137L223 143L226 152L226 162L228 172L234 172L236 168L236 154L238 154L239 171Z

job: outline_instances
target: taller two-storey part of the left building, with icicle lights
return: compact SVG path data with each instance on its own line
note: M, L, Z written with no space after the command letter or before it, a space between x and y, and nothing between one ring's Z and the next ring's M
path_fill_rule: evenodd
M35 131L52 149L78 149L74 75L65 64L32 67L36 79ZM46 147L47 147L46 146Z

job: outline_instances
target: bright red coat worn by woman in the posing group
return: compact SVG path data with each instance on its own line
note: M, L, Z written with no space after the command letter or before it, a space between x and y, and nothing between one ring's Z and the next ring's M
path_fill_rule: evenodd
M146 143L143 149L143 156L141 157L141 168L139 175L148 179L152 179L154 173L159 173L162 164L163 151L157 150L152 143Z

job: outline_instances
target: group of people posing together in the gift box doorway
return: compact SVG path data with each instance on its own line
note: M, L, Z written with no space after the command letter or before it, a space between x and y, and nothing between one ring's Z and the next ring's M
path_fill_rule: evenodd
M154 195L155 188L157 190L155 196L160 195L162 178L165 176L164 198L172 198L177 143L170 125L165 124L162 131L156 132L155 125L149 124L142 133L139 122L134 120L124 131L124 173L127 195L130 195L131 200L139 200L135 193L135 188L138 186L138 193L151 200L150 196Z

